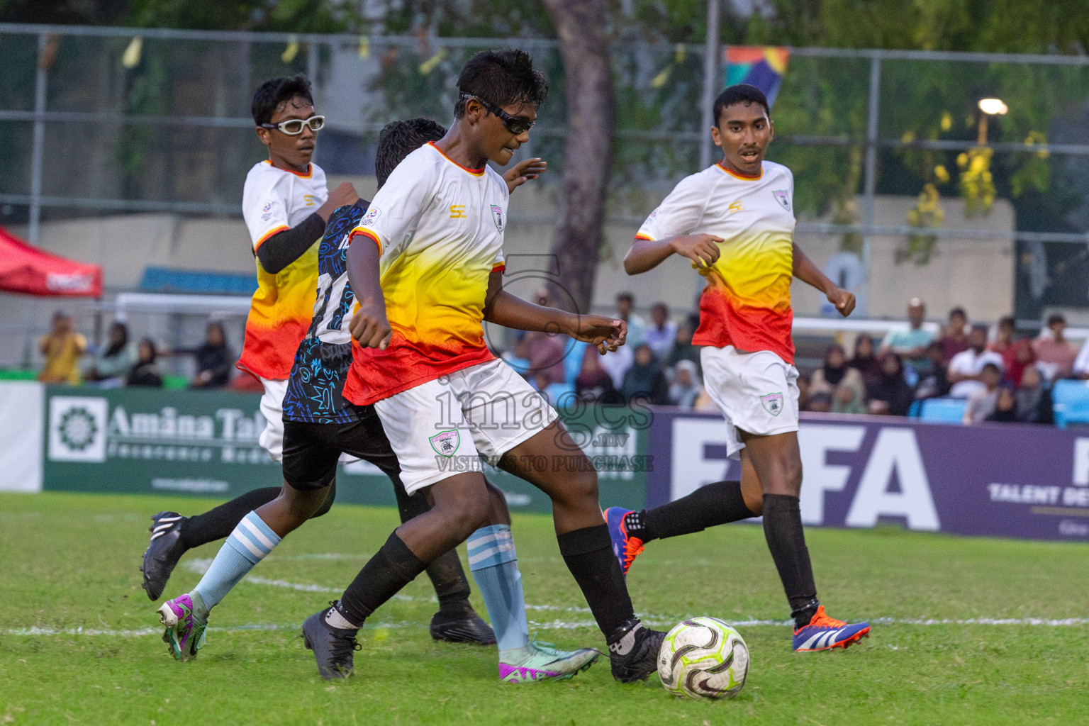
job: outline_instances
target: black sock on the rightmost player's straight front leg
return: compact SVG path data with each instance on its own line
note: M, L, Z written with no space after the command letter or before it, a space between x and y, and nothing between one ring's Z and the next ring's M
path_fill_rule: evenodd
M797 496L763 495L763 536L791 603L791 615L797 627L808 625L820 603Z

